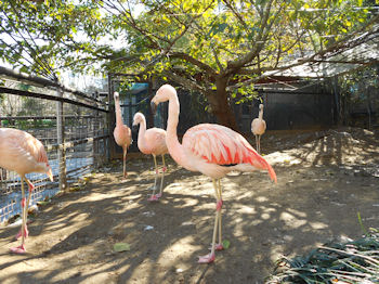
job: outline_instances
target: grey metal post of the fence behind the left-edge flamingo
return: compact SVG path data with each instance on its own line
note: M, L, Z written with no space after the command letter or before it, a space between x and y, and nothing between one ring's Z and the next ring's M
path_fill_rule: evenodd
M63 98L63 90L57 89L57 96ZM56 142L60 145L57 150L57 160L60 168L60 191L65 192L67 190L66 180L66 149L64 146L65 141L65 121L63 116L63 102L56 102Z

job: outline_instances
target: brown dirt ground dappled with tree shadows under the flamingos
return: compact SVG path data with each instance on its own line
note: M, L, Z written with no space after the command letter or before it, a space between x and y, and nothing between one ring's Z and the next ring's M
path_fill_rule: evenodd
M262 138L266 172L222 179L223 236L228 249L208 254L215 203L210 180L169 159L164 197L147 202L153 158L121 162L41 206L25 255L9 248L18 228L0 227L0 283L264 283L280 256L331 240L360 237L379 222L378 133L339 128L272 131ZM130 244L114 251L114 244Z

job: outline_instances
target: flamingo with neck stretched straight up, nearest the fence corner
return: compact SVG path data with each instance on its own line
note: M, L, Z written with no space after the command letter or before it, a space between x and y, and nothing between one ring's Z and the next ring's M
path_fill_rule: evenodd
M114 130L114 137L117 145L122 147L123 153L123 178L128 176L127 169L126 169L126 162L127 162L127 152L132 143L132 131L129 127L123 125L122 122L122 115L121 115L121 107L120 107L120 95L118 92L114 93L115 98L115 108L116 108L116 127Z

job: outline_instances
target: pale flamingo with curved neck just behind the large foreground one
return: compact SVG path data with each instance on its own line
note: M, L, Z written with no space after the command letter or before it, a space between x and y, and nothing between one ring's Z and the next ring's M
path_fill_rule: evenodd
M169 153L166 145L166 131L160 128L149 128L146 130L146 119L145 116L142 113L136 113L133 118L133 126L140 125L140 131L139 131L139 149L143 154L146 155L153 155L154 157L154 164L155 164L155 180L154 180L154 188L153 188L153 194L152 197L148 198L148 201L154 202L158 201L159 197L162 194L162 185L164 185L164 179L165 179L165 171L166 171L166 165L165 165L165 154ZM161 155L162 158L162 177L160 180L160 191L158 194L155 195L156 184L157 184L157 177L158 177L158 166L157 166L157 159L156 156Z

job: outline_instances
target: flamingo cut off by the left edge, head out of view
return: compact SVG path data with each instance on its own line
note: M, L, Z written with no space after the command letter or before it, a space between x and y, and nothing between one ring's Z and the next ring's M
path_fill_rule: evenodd
M31 192L35 188L25 175L30 172L42 172L47 173L51 181L53 181L53 175L42 143L31 134L12 128L0 128L0 167L13 170L21 177L23 223L16 238L22 236L22 243L21 246L12 247L11 251L24 254L26 251L24 245L25 238L29 234L26 225L27 210ZM27 202L25 201L24 180L29 189Z

